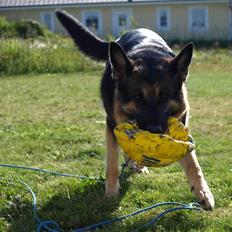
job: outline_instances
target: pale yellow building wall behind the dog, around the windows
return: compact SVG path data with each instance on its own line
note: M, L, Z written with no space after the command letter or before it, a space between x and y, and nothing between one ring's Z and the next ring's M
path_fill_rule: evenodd
M208 9L209 28L205 32L189 31L189 8L192 6L206 7ZM157 11L159 7L166 7L170 10L170 31L159 32L157 28ZM112 12L115 9L129 9L138 27L145 27L159 32L163 37L168 39L229 39L230 16L229 8L225 3L214 4L126 4L120 6L112 5L95 5L84 6L82 8L67 8L66 11L82 19L83 11L99 11L102 14L102 36L112 33ZM0 16L5 16L9 20L31 19L41 21L42 12L54 12L55 8L36 8L36 9L17 9L17 10L0 10ZM54 31L65 33L54 16Z

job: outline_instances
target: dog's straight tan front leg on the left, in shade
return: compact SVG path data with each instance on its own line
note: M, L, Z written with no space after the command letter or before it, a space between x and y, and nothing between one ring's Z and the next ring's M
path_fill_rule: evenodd
M113 131L106 128L107 158L106 158L106 197L114 197L119 193L119 164L118 164L118 144Z

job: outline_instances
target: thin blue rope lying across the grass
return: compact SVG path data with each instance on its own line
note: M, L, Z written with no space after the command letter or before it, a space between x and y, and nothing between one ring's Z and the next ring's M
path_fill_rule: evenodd
M95 177L87 177L87 176L78 176L78 175L73 175L73 174L67 174L67 173L59 173L59 172L55 172L55 171L50 171L50 170L46 170L46 169L41 169L41 168L30 168L30 167L26 167L26 166L19 166L19 165L11 165L11 164L0 164L0 167L6 167L6 168L17 168L17 169L25 169L25 170L30 170L30 171L38 171L38 172L43 172L43 173L50 173L52 175L57 175L57 176L65 176L65 177L74 177L74 178L80 178L80 179L90 179L90 180L96 180L96 181L103 181L102 178L95 178ZM124 170L125 166L122 167L122 170ZM33 214L34 214L34 218L35 221L37 223L37 228L36 228L36 232L42 232L44 230L48 231L48 232L61 232L61 228L60 226L52 220L46 220L46 221L42 221L38 214L37 214L37 199L36 199L36 195L33 192L33 190L31 189L31 187L26 184L25 182L21 181L21 180L15 180L15 179L10 179L10 178L5 178L5 177L0 177L0 180L7 180L8 182L16 182L19 183L21 185L23 185L24 187L26 187L28 189L28 191L30 192L31 196L32 196L32 207L33 207ZM202 210L200 204L198 203L191 203L191 204L183 204L183 203L179 203L179 202L162 202L162 203L157 203L155 205L149 206L147 208L120 216L120 217L116 217L110 220L104 220L100 223L96 223L84 228L80 228L80 229L75 229L72 232L83 232L83 231L93 231L96 229L100 229L106 225L110 225L114 222L119 222L125 218L128 217L132 217L135 215L138 215L140 213L146 212L148 210L157 208L159 206L164 206L164 205L176 205L177 207L174 208L170 208L167 209L165 211L163 211L162 213L160 213L159 215L157 215L154 219L152 219L150 222L148 222L147 224L145 224L144 226L142 226L141 228L137 229L136 231L139 231L140 229L143 228L147 228L149 226L151 226L152 224L156 224L157 221L163 217L164 215L173 212L173 211L177 211L177 210Z

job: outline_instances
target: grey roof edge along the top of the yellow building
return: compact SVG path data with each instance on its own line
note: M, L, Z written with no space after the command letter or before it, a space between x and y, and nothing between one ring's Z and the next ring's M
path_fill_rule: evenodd
M226 0L0 0L0 8L68 6L83 4L123 4L123 3L193 3L228 2Z

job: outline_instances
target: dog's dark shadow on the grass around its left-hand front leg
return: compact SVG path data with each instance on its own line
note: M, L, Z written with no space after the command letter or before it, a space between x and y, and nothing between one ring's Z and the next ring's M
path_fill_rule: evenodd
M124 175L120 181L123 191L118 197L113 199L104 197L104 182L82 181L76 188L72 187L73 189L69 190L69 197L62 195L52 197L40 210L40 214L58 222L64 231L112 219L130 186L127 180L129 176L130 173Z

